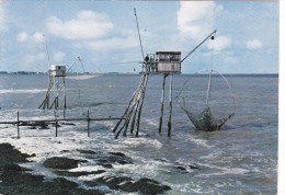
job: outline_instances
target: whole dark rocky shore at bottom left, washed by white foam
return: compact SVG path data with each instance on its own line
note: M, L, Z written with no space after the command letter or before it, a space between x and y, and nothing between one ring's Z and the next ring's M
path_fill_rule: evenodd
M112 192L137 193L137 194L163 194L171 187L158 181L147 177L133 179L129 176L104 175L107 170L113 169L113 164L132 164L133 160L121 152L96 152L91 150L80 150L80 153L88 159L102 165L102 170L70 172L79 163L86 160L70 159L65 157L47 158L43 165L50 169L57 175L56 179L46 180L44 175L34 175L31 170L22 168L19 163L29 162L30 157L36 154L21 153L10 144L0 144L0 194L5 195L49 195L49 194L72 194L72 195L101 195ZM92 181L84 182L84 188L78 183L68 180L72 176L98 175ZM104 191L98 190L104 186ZM109 188L109 190L107 190Z

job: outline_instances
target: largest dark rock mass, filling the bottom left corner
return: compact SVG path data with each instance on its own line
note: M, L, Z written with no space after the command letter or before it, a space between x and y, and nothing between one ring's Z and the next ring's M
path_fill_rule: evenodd
M27 162L31 157L21 153L10 144L0 144L0 193L5 195L102 195L98 190L79 188L78 184L62 177L45 181L44 175L32 175L15 163Z

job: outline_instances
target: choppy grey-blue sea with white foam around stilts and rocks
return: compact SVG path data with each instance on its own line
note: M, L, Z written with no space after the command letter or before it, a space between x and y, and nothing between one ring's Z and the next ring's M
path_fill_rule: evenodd
M142 108L140 133L136 138L114 139L112 133L116 121L92 122L91 136L87 136L87 122L76 126L62 126L55 137L55 129L26 129L21 127L16 139L16 126L0 125L0 142L11 142L22 152L36 153L33 162L22 164L35 174L56 176L43 168L47 157L65 156L86 159L78 149L123 152L134 164L117 164L103 174L150 177L171 186L166 194L276 194L277 193L277 140L278 140L278 77L228 76L235 94L235 117L220 131L195 130L186 114L180 108L175 96L183 83L192 76L173 78L172 137L167 137L169 116L168 90L162 134L158 134L160 115L161 76L150 76ZM66 79L66 117L121 117L138 87L138 74L98 74ZM206 77L191 80L204 92ZM0 121L53 118L54 111L37 107L47 89L46 74L0 74ZM196 92L196 94L195 94ZM224 97L223 91L216 92ZM59 116L62 116L62 93L59 96ZM197 100L198 102L198 100ZM195 104L193 100L192 104ZM195 104L197 107L198 104ZM223 106L221 106L223 107ZM232 110L232 107L228 107ZM227 107L220 112L226 112ZM227 111L229 112L229 111ZM92 160L72 171L94 171L99 168ZM198 169L191 169L190 165ZM183 167L185 170L175 169ZM94 175L72 177L82 187ZM113 191L111 194L119 194Z

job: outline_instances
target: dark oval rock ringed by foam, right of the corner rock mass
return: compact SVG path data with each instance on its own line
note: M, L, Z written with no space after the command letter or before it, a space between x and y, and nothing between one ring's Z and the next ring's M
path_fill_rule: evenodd
M47 159L43 164L46 168L68 170L78 168L78 163L88 162L86 160L68 159L65 157L53 157Z

